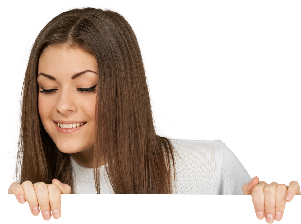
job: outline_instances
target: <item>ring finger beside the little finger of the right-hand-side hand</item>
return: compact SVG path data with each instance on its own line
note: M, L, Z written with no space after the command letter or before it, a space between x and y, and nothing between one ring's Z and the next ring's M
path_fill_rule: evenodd
M287 202L284 197L288 186L286 184L279 183L276 187L276 207L275 207L275 220L282 221L285 213Z

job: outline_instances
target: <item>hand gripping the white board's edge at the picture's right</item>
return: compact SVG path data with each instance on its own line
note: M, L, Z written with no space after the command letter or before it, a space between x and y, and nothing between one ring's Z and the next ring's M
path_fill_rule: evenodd
M251 182L243 185L243 196L251 196L255 217L259 221L265 219L267 223L282 221L287 203L300 195L301 185L298 180L291 180L289 184L276 180L267 182L255 175Z

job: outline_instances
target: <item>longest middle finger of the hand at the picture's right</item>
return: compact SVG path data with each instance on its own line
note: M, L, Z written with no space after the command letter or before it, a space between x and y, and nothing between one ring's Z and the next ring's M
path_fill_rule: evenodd
M273 223L275 219L275 207L276 207L276 187L275 184L279 185L278 182L270 182L264 186L264 213L265 220L267 223Z

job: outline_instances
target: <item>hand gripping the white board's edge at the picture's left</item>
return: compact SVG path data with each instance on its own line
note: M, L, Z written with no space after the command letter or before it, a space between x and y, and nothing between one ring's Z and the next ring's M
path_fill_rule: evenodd
M44 221L50 221L51 218L58 220L62 217L62 195L71 193L68 184L62 185L57 179L53 179L52 184L43 182L32 184L28 180L21 185L13 182L7 188L7 194L14 195L19 204L27 203L32 216L39 217L41 214Z

